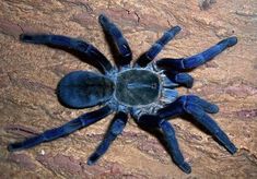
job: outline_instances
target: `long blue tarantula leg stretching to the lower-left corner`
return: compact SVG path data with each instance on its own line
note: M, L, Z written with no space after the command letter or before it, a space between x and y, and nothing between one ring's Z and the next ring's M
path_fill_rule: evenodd
M43 142L49 142L49 141L59 139L61 136L73 133L74 131L81 128L84 128L92 123L97 122L98 120L108 116L110 112L112 112L112 109L108 106L105 106L98 110L84 114L59 128L47 130L43 132L42 134L30 138L23 142L12 143L8 146L8 150L10 152L21 151L21 150L33 147Z

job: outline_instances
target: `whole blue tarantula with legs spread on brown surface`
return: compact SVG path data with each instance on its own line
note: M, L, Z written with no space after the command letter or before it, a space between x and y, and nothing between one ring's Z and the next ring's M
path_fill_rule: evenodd
M217 114L217 105L195 95L179 96L177 86L190 88L194 79L185 73L197 68L221 53L227 47L237 43L236 37L229 37L198 55L180 59L160 59L153 61L163 47L180 31L179 26L167 29L153 46L136 61L128 41L118 27L105 15L100 15L106 37L117 53L117 68L94 46L80 39L61 35L22 34L24 43L43 44L55 48L75 51L79 57L86 58L102 73L75 71L67 74L58 84L57 95L67 107L82 109L97 105L95 111L84 114L70 122L47 130L23 142L10 144L8 150L19 151L30 148L43 142L66 136L81 128L89 127L112 112L116 112L103 141L89 157L87 164L93 165L108 150L112 142L119 135L128 119L128 114L135 118L142 129L157 129L163 133L167 151L174 163L185 172L191 171L179 150L174 128L167 120L177 116L189 115L209 131L231 154L237 148L221 128L207 115ZM92 61L93 60L93 61Z

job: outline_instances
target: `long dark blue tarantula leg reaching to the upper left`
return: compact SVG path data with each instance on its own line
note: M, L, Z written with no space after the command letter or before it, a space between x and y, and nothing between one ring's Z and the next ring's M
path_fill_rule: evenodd
M74 50L90 60L94 60L95 68L102 73L112 71L113 67L105 56L100 52L93 45L86 41L62 36L62 35L47 35L47 34L21 34L20 40L30 44L47 45L65 50Z

